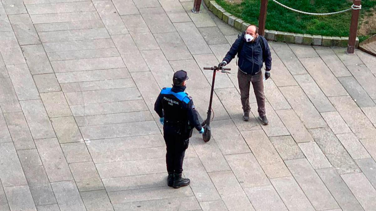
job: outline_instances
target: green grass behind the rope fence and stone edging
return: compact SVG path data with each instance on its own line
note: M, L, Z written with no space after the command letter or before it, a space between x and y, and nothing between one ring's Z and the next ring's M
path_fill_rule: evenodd
M260 0L244 0L240 4L231 4L225 0L215 0L227 12L251 24L258 24ZM349 0L278 0L291 8L314 13L335 12L350 8ZM370 15L372 8L376 8L376 0L361 2L361 24L364 15ZM293 32L323 36L349 36L351 11L336 15L313 16L304 15L282 8L269 0L266 29L282 32Z

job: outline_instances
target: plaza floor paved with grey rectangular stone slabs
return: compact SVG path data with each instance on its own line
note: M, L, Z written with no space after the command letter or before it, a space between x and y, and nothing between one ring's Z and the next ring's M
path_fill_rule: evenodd
M154 102L174 71L206 116L238 31L191 0L2 0L0 211L376 210L376 57L270 42L270 124L244 122L235 60L212 139L167 186ZM253 92L253 90L252 90Z

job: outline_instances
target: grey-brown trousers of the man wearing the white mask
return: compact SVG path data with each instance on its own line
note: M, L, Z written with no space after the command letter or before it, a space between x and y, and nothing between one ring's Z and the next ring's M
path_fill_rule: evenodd
M265 116L265 95L264 95L264 81L262 71L259 71L256 75L247 75L238 70L238 83L240 89L240 99L243 105L243 112L249 114L249 88L252 83L253 90L255 92L258 113L260 116Z

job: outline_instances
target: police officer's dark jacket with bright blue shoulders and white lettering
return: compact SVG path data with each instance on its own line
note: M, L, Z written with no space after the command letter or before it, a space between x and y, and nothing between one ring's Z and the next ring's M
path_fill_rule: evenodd
M163 88L155 101L154 110L158 113L159 117L165 118L164 128L166 125L172 127L190 126L200 131L202 127L193 100L184 90L185 87L179 86Z

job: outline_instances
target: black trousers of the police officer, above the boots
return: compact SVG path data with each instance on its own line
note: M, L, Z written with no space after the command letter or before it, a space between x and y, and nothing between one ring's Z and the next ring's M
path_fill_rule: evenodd
M167 172L182 173L185 150L188 148L189 139L180 134L171 133L164 130L164 140L166 143L166 166Z

